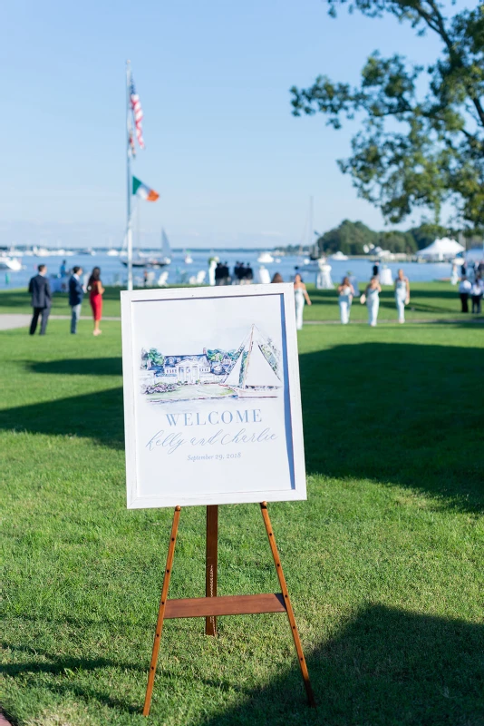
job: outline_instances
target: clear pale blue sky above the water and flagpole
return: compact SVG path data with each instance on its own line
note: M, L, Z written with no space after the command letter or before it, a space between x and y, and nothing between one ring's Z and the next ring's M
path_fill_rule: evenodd
M160 192L135 222L144 244L161 225L192 249L299 243L310 195L316 230L382 228L335 163L356 126L296 119L288 91L356 82L376 48L425 63L439 44L390 17L334 20L322 0L5 5L0 244L121 242L127 58L145 115L133 171Z

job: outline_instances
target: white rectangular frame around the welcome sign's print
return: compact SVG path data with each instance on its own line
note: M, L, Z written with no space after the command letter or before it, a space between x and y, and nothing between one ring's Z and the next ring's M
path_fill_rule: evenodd
M197 492L188 481L183 481L179 494L165 491L157 495L140 494L140 476L137 441L136 397L140 396L140 384L137 378L140 364L134 348L135 317L139 315L139 303L216 299L224 304L224 299L257 297L257 303L263 303L263 296L278 296L281 309L280 322L282 340L285 348L285 376L283 381L285 408L285 435L288 466L291 472L290 488L274 484L266 491L257 491L246 486L240 491ZM262 297L259 297L262 296ZM138 306L135 308L135 306ZM160 317L162 319L162 316ZM121 292L121 329L122 329L122 369L124 390L124 426L126 453L126 486L127 506L129 509L149 507L173 507L176 505L222 505L258 503L262 501L292 501L306 498L305 486L305 453L303 439L303 421L301 410L301 393L299 383L299 361L297 352L297 333L295 329L295 295L290 283L270 285L219 286L213 288L169 288L147 289ZM254 326L253 326L254 329ZM252 348L251 348L252 349ZM139 360L139 358L138 358ZM234 366L235 368L235 366ZM288 409L287 409L288 404ZM287 430L289 425L290 430ZM142 444L142 446L145 446ZM211 465L210 465L211 466ZM271 461L267 461L267 471L271 471ZM232 468L232 472L234 469ZM196 478L195 476L193 478ZM248 477L250 479L250 476ZM179 484L179 482L178 482ZM173 489L171 489L171 492Z

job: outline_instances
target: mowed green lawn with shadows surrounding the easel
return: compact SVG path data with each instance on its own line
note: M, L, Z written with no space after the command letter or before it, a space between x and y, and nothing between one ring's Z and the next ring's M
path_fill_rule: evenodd
M127 511L121 332L0 334L5 712L143 724L172 512ZM484 723L481 326L300 334L308 500L269 505L286 616L165 623L149 723ZM160 473L162 476L162 473ZM173 482L176 486L176 482ZM170 595L205 592L205 512L181 512ZM257 505L223 506L219 594L276 592Z

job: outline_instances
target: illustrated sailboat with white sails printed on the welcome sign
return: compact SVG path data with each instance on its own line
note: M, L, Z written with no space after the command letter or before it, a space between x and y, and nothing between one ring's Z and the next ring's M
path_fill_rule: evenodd
M260 330L252 325L238 348L235 365L221 385L231 388L237 397L277 397L282 381L266 357L263 349L266 345Z

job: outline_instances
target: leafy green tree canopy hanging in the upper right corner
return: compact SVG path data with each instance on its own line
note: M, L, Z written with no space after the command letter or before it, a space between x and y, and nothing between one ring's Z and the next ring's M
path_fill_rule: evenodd
M347 0L326 0L330 15ZM325 75L306 89L291 89L293 113L324 113L339 129L344 118L363 115L352 155L339 160L359 196L378 206L387 221L403 221L417 208L440 220L444 201L456 221L484 225L484 5L445 15L438 0L353 0L350 9L369 17L394 15L417 34L435 33L441 53L427 68L401 54L378 51L363 66L361 83ZM426 90L422 93L422 80Z

